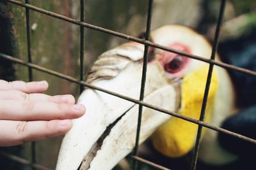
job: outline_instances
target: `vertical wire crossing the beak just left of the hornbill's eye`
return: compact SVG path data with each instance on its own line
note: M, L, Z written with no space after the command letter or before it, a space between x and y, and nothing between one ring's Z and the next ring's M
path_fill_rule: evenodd
M151 16L152 16L152 3L153 0L148 0L148 13L147 13L147 28L145 34L145 40L150 39L150 25L151 25ZM141 89L140 89L140 101L144 99L145 83L146 83L146 74L147 74L147 62L148 62L148 45L144 46L144 56L143 56L143 69L142 69L142 78L141 78ZM139 113L138 113L138 124L136 132L136 141L134 148L134 155L138 155L138 146L140 139L140 127L141 127L141 117L142 117L143 106L140 104ZM138 169L138 161L134 160L133 164L134 169Z

